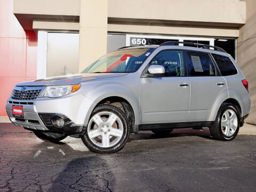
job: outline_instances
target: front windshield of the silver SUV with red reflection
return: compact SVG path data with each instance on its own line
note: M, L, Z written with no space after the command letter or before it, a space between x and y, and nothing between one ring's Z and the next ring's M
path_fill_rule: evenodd
M154 48L114 51L92 63L82 73L131 73L141 67Z

